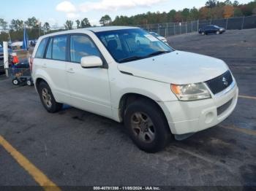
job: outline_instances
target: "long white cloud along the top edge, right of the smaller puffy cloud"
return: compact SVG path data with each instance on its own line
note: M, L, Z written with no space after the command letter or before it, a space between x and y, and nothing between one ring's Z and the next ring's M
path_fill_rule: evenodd
M85 2L80 4L81 12L89 12L91 10L107 10L113 11L118 9L132 9L135 7L151 7L166 0L101 0L98 2Z

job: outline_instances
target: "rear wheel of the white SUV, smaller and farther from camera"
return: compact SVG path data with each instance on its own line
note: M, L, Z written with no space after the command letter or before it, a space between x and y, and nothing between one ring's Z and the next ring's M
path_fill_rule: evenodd
M59 112L63 104L58 103L53 97L53 93L50 90L49 85L46 82L40 82L38 85L38 93L42 102L42 105L50 113Z

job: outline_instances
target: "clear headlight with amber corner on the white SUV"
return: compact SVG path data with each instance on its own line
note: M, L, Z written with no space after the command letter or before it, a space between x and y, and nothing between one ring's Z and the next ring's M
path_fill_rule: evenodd
M203 83L189 85L170 85L171 90L181 101L193 101L211 98L206 85Z

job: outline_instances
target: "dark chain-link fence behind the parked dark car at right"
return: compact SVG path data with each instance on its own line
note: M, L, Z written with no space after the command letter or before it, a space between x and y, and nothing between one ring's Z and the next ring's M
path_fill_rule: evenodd
M161 36L173 36L197 32L199 28L208 25L216 25L226 30L256 28L256 16L232 17L217 20L192 20L180 23L159 23L140 26L147 31L154 31Z

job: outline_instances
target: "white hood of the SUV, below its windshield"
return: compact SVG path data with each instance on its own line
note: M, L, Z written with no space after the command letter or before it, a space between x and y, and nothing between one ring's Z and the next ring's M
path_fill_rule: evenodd
M119 63L120 71L136 77L176 85L206 82L227 71L224 61L191 52L173 51L128 63Z

